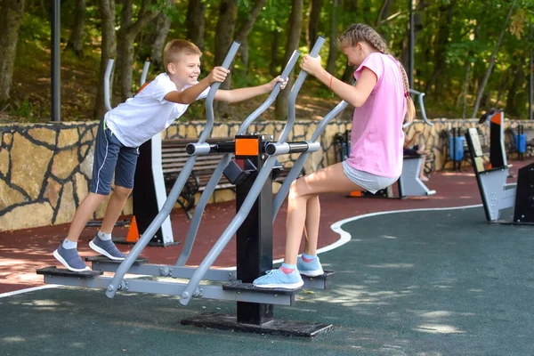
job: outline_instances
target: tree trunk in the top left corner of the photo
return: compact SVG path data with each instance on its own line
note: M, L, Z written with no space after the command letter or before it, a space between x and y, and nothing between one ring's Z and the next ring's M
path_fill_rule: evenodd
M24 0L3 1L0 8L0 109L9 101L24 3Z

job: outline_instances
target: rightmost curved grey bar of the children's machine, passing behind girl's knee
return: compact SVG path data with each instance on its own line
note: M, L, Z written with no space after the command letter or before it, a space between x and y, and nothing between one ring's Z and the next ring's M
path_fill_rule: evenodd
M341 101L339 104L336 105L334 109L331 109L328 114L323 117L322 120L320 120L319 125L317 125L317 128L312 134L312 140L311 142L317 141L319 139L320 135L325 131L325 128L328 125L328 122L332 120L332 118L336 117L340 112L342 112L346 107L348 103L346 101ZM274 220L276 219L276 215L279 212L279 208L284 202L284 200L287 197L287 194L289 193L289 189L291 188L291 183L295 181L295 179L298 177L298 174L301 173L303 170L303 166L306 163L306 160L308 159L308 156L310 155L309 152L305 152L301 154L295 161L295 164L287 174L286 179L282 183L282 186L280 187L278 193L276 193L276 196L272 200L272 223L274 223Z

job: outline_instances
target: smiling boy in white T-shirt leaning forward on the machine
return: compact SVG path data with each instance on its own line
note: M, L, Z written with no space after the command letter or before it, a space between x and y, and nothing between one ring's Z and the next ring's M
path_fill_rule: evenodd
M175 39L169 42L164 51L166 73L159 74L141 93L110 110L101 120L94 150L91 190L78 206L67 238L53 252L54 257L70 271L90 270L77 253L77 240L93 212L109 195L114 172L115 189L109 198L101 229L89 242L89 247L112 260L125 259L111 240L111 231L134 188L138 147L181 117L191 102L206 98L209 86L223 82L230 72L215 67L198 82L201 54L198 47L189 41ZM278 82L282 83L282 89L286 86L286 82L276 77L265 85L219 90L214 99L245 101L271 92Z

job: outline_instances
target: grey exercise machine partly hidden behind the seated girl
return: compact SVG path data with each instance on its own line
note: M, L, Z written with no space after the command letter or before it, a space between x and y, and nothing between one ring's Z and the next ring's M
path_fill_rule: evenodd
M409 93L417 95L417 102L419 103L419 109L421 111L421 117L426 125L433 125L432 122L426 117L425 101L423 100L425 93L417 92L417 90L410 89ZM408 127L409 123L402 125L402 127ZM346 150L344 151L344 159L348 158L351 148L349 135L345 134ZM343 155L343 150L342 150ZM349 197L366 197L366 198L406 198L406 197L425 197L431 196L436 193L436 190L430 190L426 186L425 182L419 178L421 170L425 169L423 166L423 158L425 155L405 155L402 160L402 173L397 181L398 196L395 196L393 187L390 185L383 190L376 191L375 194L369 193L366 190L352 191Z

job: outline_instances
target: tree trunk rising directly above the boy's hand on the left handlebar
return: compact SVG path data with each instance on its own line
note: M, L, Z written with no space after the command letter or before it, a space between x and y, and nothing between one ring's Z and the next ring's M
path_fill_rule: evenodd
M231 42L234 38L234 32L236 29L236 19L238 17L238 1L237 0L221 0L221 6L219 7L219 19L217 20L217 26L215 28L215 56L214 65L220 66L223 64L224 57L231 46ZM228 90L230 89L231 74L228 75L226 80L221 84L220 88ZM219 112L222 117L228 117L229 107L228 102L217 101L214 105L214 109Z

